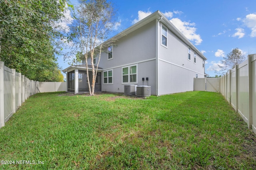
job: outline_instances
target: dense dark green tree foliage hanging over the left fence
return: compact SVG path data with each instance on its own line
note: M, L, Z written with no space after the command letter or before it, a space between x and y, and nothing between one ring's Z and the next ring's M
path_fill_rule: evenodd
M58 65L53 48L60 36L54 21L62 18L65 0L1 0L0 60L31 80L54 77Z

